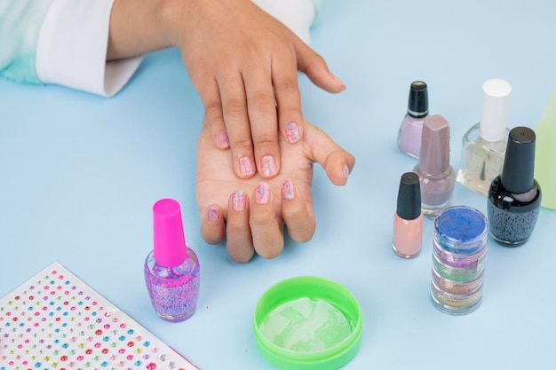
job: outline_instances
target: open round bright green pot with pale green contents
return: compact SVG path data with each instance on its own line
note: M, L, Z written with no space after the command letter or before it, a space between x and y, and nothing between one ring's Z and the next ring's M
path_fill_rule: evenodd
M281 370L336 370L359 350L363 319L346 287L300 276L268 288L253 316L257 349Z

